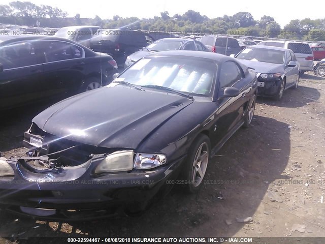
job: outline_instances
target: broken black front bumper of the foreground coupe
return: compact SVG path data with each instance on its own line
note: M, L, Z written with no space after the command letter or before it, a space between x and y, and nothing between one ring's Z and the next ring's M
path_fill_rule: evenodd
M89 220L144 210L168 192L182 159L144 171L95 174L104 155L73 167L40 168L46 157L7 160L14 176L0 177L0 208L46 220Z

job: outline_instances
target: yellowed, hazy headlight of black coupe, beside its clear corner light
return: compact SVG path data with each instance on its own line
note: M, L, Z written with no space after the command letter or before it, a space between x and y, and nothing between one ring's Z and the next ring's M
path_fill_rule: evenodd
M133 169L133 150L115 151L96 167L95 173L128 171Z

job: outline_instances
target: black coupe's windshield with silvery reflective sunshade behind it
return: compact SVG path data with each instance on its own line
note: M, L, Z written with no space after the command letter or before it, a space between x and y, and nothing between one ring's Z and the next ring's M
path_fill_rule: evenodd
M140 59L116 80L212 97L216 71L216 64L202 58L150 57Z

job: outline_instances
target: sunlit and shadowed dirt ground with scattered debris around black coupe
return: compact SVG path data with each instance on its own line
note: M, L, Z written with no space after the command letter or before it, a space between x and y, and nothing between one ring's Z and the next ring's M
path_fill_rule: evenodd
M141 217L81 223L40 222L2 211L0 236L7 237L0 243L12 236L325 237L324 90L325 79L307 73L281 102L259 98L252 127L235 133L210 161L198 195L176 187ZM2 114L5 157L25 154L23 132L45 107ZM220 192L224 201L217 198Z

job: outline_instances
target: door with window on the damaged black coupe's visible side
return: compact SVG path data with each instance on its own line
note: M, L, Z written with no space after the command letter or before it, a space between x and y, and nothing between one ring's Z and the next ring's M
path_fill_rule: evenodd
M241 68L232 61L225 62L221 65L218 76L217 94L220 97L226 87L236 87L243 89L241 81L244 79ZM243 114L243 104L246 101L245 96L239 95L234 98L221 98L217 100L215 112L215 125L213 144L217 145L226 135L239 123Z

